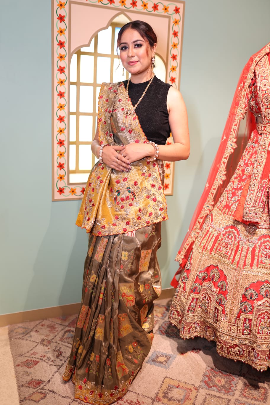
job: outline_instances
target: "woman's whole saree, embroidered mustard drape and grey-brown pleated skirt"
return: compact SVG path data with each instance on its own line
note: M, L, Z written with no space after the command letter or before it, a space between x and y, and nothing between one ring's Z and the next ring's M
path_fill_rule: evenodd
M138 117L123 117L123 83L103 83L99 141L148 142ZM130 100L129 100L130 102ZM131 103L131 102L130 102ZM89 235L82 305L63 379L75 398L110 404L128 390L153 339L153 301L161 292L156 252L167 205L160 160L133 162L121 173L98 162L87 182L76 224Z

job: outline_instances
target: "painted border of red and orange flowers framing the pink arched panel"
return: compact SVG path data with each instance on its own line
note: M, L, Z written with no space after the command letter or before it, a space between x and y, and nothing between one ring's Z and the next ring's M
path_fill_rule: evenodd
M78 3L83 0L77 0ZM176 4L166 0L86 0L99 6L111 6L118 9L144 11L170 15L170 61L167 81L174 87L179 87L181 64L181 41L183 36L184 2ZM68 30L68 0L52 0L53 12L53 200L74 200L82 198L85 187L82 184L70 185L66 179L68 165L68 133L66 120L67 106L67 35ZM55 29L56 28L56 29ZM54 56L57 62L54 63ZM55 81L56 78L56 81ZM170 143L170 139L168 140ZM165 194L172 194L173 162L164 162L165 165Z

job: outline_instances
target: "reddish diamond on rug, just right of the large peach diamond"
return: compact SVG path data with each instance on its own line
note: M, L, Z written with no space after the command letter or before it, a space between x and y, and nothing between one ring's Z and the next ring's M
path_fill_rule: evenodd
M224 371L206 367L202 377L202 386L222 394L233 395L239 378Z

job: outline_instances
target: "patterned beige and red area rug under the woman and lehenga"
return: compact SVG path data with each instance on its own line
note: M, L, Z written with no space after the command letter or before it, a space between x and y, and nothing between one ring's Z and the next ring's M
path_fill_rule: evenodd
M168 322L168 300L155 304L151 352L118 405L270 404L270 371L260 373L220 357L215 343L182 340ZM82 404L72 382L62 380L76 317L25 322L9 327L20 404ZM11 401L12 403L12 401Z

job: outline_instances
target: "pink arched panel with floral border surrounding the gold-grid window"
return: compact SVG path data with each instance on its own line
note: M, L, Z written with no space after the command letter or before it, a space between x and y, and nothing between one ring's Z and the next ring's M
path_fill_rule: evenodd
M108 28L118 15L148 22L158 38L158 54L166 66L166 81L180 86L185 2L152 0L52 0L52 198L76 200L85 184L69 182L70 60L74 52ZM171 142L171 138L168 139ZM165 164L165 194L173 190L173 163Z

